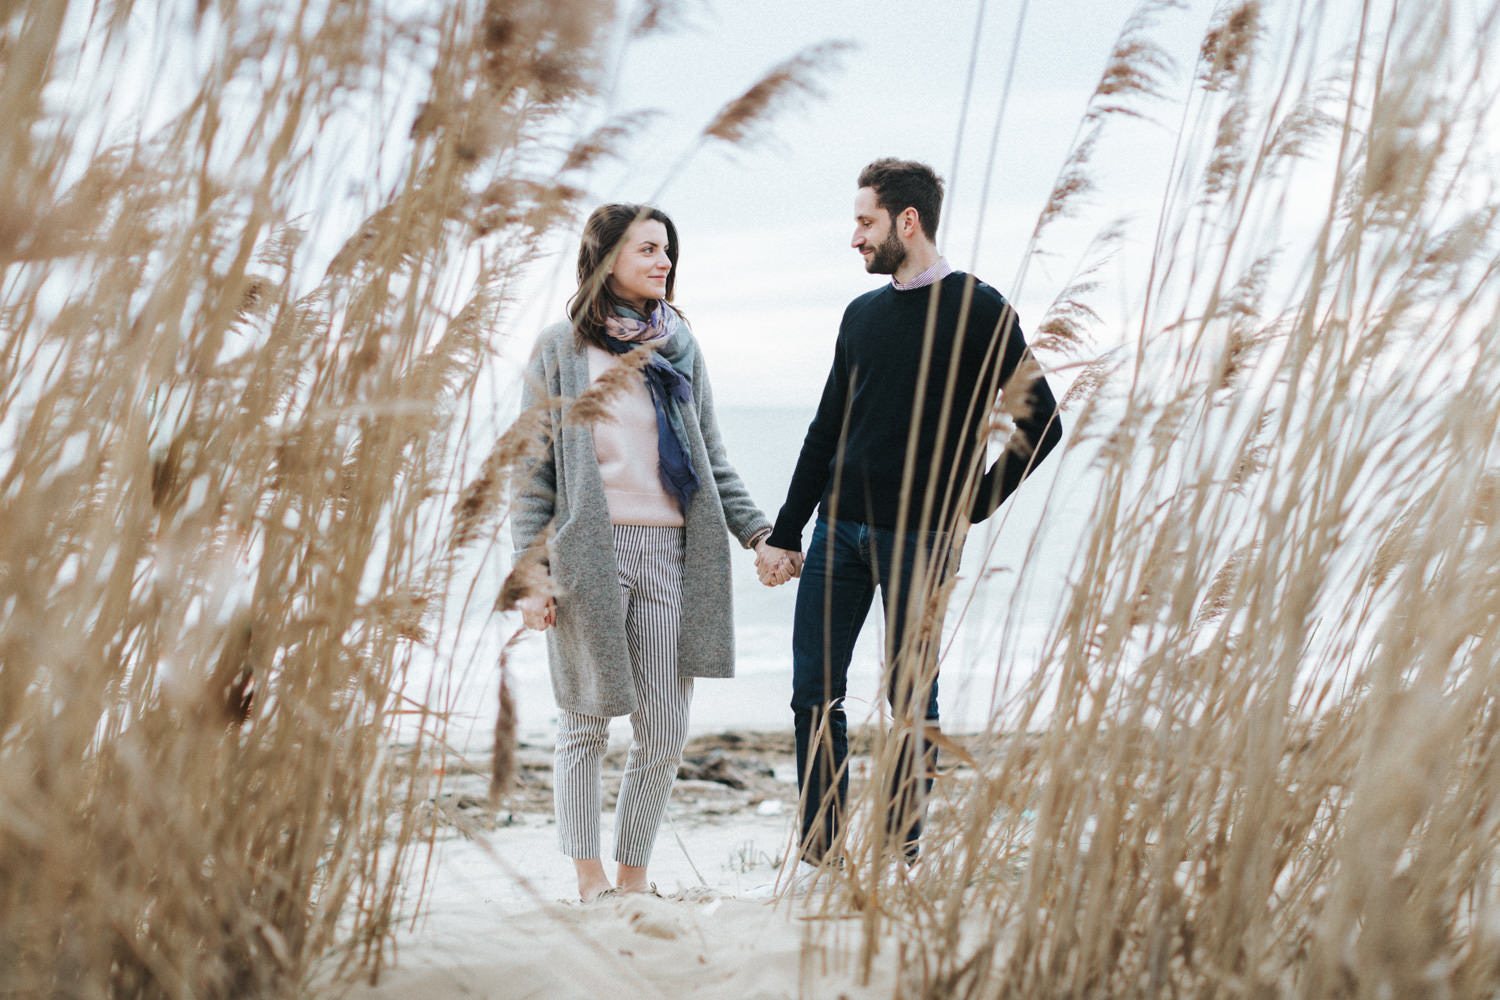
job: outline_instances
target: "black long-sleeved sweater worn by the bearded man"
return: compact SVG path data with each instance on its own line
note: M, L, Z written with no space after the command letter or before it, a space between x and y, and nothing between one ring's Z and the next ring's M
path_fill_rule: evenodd
M958 492L974 463L984 460L980 435L996 394L1024 354L1014 310L998 291L963 271L928 288L897 291L886 285L855 298L838 327L824 397L768 541L801 550L802 528L819 501L830 519L879 528L951 528ZM993 514L1062 438L1047 379L1038 376L1029 390L1024 412L1016 420L1023 441L1012 441L980 480L969 520ZM928 490L932 514L924 514ZM904 525L898 525L903 496L910 501Z

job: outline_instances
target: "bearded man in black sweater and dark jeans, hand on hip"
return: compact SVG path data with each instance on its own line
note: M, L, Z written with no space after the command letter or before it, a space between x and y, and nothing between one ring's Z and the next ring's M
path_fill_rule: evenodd
M938 610L956 571L960 523L994 513L1062 436L1014 310L938 253L940 208L942 180L924 163L879 159L861 171L850 246L867 271L892 280L844 310L818 414L768 538L774 558L762 580L801 573L792 627L798 888L837 847L849 783L844 684L876 589L898 745L886 837L915 862L936 766L928 733L938 727ZM1014 432L986 471L1002 388ZM814 507L804 562L802 528Z

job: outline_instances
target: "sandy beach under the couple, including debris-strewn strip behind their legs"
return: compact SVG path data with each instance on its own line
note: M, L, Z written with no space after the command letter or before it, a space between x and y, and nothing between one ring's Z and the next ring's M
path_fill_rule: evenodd
M618 787L622 756L615 741L606 844L609 775ZM576 901L555 844L550 747L519 748L516 792L498 813L478 762L454 762L441 795L423 805L438 835L430 864L418 864L406 886L394 964L344 996L890 997L894 948L864 978L855 912L830 921L818 895L746 898L776 882L790 844L794 760L789 733L694 738L651 862L662 897L590 906ZM856 777L862 763L855 760Z

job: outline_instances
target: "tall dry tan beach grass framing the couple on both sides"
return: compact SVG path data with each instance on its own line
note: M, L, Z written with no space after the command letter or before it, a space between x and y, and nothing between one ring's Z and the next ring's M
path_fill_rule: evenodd
M614 13L0 4L0 993L284 996L390 960L442 735L393 693L472 610L444 595L548 429L483 447L468 399L630 135L568 138ZM1100 484L1068 598L910 877L867 784L824 903L858 933L810 943L896 948L903 997L1494 996L1500 13L1227 3L1191 52L1170 16L1126 22L1028 250L1110 214L1119 129L1170 123L1140 307L1102 306L1110 223L1034 324L1060 460ZM1035 552L1022 586L1059 571Z

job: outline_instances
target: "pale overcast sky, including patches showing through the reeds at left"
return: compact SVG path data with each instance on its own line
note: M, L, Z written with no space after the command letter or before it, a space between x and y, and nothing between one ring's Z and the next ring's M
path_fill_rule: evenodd
M630 0L620 1L630 6ZM392 6L402 3L392 0ZM882 280L864 273L848 241L855 175L886 154L927 160L946 177L942 249L954 265L1005 292L1028 331L1066 285L1089 238L1118 217L1132 217L1125 252L1110 264L1106 291L1094 303L1110 321L1101 339L1119 339L1148 283L1152 229L1214 0L1190 0L1156 18L1152 37L1178 61L1164 85L1167 96L1143 106L1149 118L1110 126L1089 166L1096 190L1076 220L1048 231L1042 241L1048 253L1030 261L1024 282L1017 276L1028 237L1114 39L1136 10L1132 3L687 0L681 7L686 24L680 30L622 49L606 72L614 88L580 108L576 121L582 133L610 114L660 111L622 148L620 162L594 175L591 187L596 201L654 199L676 220L682 241L678 301L704 343L722 402L808 403L816 396L844 304ZM78 37L88 37L87 4L72 10ZM138 37L123 48L108 88L118 112L94 115L110 121L106 130L116 139L132 123L150 135L176 114L192 93L190 81L212 67L218 46L212 9L204 25L192 27L184 4L166 4L158 16L174 10L182 19L174 30L160 30L141 10L132 25ZM1275 30L1266 36L1278 43ZM822 73L824 97L784 108L759 141L744 147L714 142L693 151L694 136L726 100L777 61L834 39L854 48ZM356 213L374 208L405 163L405 129L426 93L429 48L420 39L393 42L393 78L368 106L345 108L320 135L320 156L336 159L338 168L309 171L296 202L309 207L298 222L314 229L312 241L328 243L324 259L356 225ZM964 117L970 58L974 85ZM1010 100L986 186L1008 76ZM75 79L62 90L93 100L96 84ZM132 118L130 109L142 103L150 111ZM392 112L393 105L406 106ZM396 123L393 130L384 127L387 120ZM246 124L244 115L226 115L224 127ZM496 400L498 423L504 423L504 400L513 405L531 340L562 313L576 240L576 231L556 235L555 252L531 270L516 309L496 331L502 354L482 391ZM304 261L315 276L320 268ZM465 294L454 291L459 300ZM1059 382L1066 379L1066 372L1058 375Z

